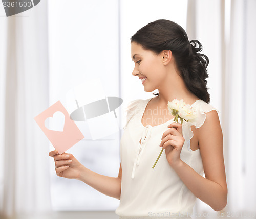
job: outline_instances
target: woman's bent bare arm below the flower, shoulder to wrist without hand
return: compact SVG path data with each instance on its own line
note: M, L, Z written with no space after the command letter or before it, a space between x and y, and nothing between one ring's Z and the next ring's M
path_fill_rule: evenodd
M212 110L206 114L204 124L193 130L196 133L202 157L205 178L180 160L172 165L187 188L200 200L221 211L227 204L227 184L223 159L223 135L218 114Z

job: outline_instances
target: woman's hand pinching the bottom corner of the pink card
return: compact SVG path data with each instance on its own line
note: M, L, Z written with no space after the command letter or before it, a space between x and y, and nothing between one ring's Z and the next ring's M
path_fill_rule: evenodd
M84 166L72 155L63 153L58 154L58 151L49 152L49 156L53 157L55 162L55 171L57 176L69 179L80 179Z

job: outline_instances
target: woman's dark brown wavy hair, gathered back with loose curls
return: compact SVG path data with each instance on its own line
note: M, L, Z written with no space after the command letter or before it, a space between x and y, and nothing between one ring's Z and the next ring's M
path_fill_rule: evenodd
M207 66L209 59L199 53L202 45L198 40L188 40L185 30L170 20L156 20L138 30L131 42L139 43L145 50L159 54L170 50L175 58L175 65L187 88L198 98L210 102L210 94L206 87ZM159 93L153 93L159 95Z

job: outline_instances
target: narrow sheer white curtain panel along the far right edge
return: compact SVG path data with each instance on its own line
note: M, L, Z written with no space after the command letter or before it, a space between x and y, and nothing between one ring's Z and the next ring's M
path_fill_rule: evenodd
M256 213L256 1L232 0L226 56L229 210ZM248 216L249 217L249 216Z

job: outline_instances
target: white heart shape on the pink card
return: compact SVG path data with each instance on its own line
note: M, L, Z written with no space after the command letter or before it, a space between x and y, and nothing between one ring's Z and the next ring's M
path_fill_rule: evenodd
M65 115L61 111L56 111L52 117L49 117L45 120L45 127L52 131L63 132L64 125Z

